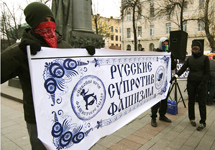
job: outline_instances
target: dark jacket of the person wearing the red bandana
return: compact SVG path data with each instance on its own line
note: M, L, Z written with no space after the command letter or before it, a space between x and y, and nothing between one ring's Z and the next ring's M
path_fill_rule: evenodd
M26 29L23 37L39 42L41 46L49 47L45 40L31 29ZM1 83L7 80L19 77L23 91L23 107L25 121L28 123L36 123L34 114L34 105L31 90L30 73L28 67L28 59L16 43L1 53ZM62 40L57 34L58 48L71 48L71 45Z

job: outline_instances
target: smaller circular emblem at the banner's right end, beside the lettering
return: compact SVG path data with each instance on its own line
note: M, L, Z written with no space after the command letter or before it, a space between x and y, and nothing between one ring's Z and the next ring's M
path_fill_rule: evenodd
M163 66L159 66L155 74L156 89L160 89L162 87L162 85L164 84L164 78L165 78L165 69Z

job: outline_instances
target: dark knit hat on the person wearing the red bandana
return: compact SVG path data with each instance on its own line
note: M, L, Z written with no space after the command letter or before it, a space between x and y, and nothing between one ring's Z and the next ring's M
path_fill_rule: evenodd
M30 3L24 9L26 22L35 29L46 17L54 19L51 9L41 2Z

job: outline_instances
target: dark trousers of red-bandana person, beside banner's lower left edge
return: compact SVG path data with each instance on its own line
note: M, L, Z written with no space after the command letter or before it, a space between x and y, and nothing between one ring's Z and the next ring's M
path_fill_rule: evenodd
M28 134L30 137L30 143L32 150L46 150L43 143L37 138L37 126L36 124L27 123Z

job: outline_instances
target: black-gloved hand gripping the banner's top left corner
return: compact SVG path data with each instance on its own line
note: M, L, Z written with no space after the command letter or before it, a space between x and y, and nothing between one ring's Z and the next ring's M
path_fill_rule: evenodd
M30 45L31 55L36 55L37 52L41 50L40 43L27 38L23 38L21 43L19 44L19 48L26 55L27 55L27 47L26 47L27 45Z

